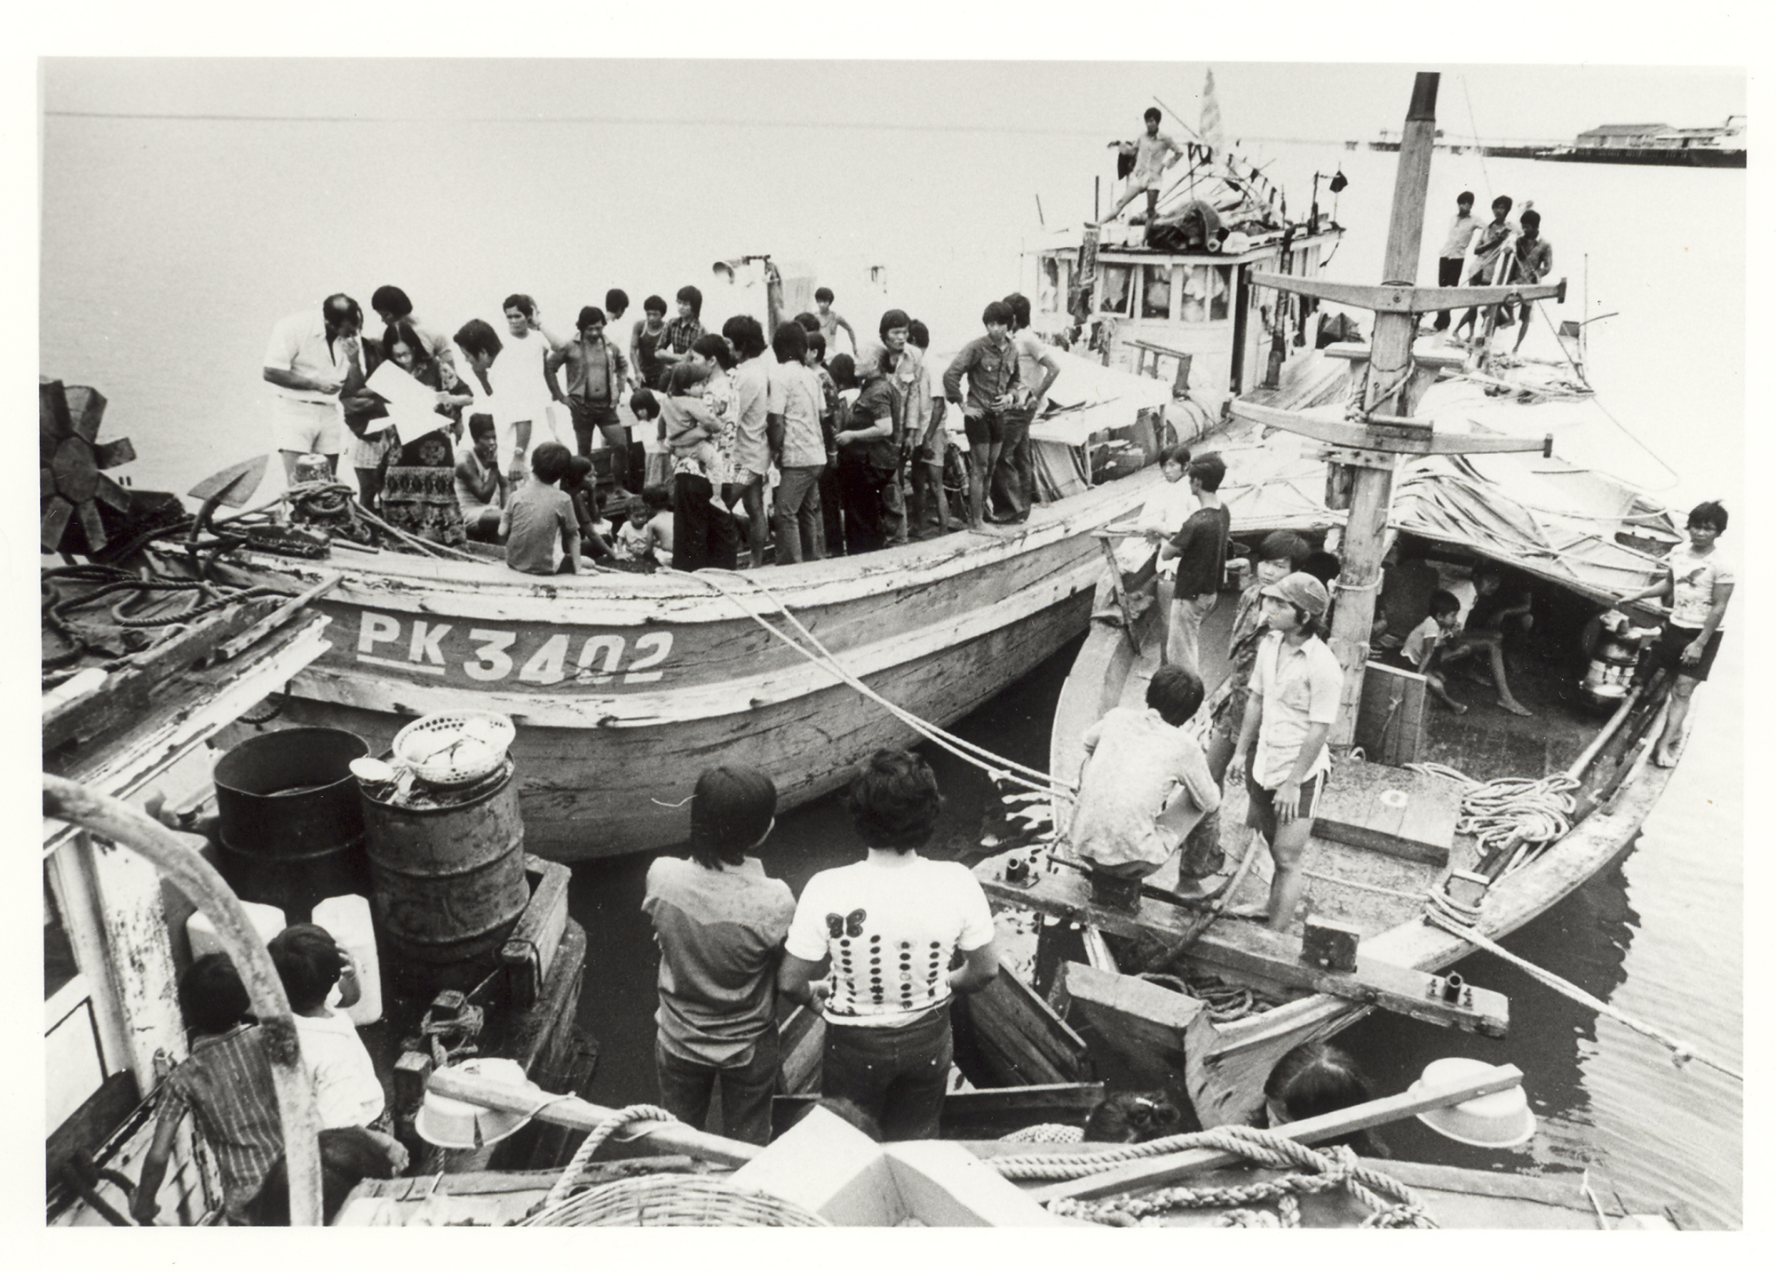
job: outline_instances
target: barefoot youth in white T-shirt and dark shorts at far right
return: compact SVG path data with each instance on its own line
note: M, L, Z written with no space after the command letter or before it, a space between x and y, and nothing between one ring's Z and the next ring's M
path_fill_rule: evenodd
M1726 533L1726 508L1698 503L1689 512L1689 542L1678 544L1664 560L1664 577L1650 588L1623 597L1629 606L1648 597L1671 602L1671 613L1659 629L1659 641L1641 663L1641 675L1664 666L1677 673L1664 737L1653 751L1653 764L1677 764L1677 746L1684 741L1684 718L1696 686L1709 679L1714 656L1721 650L1721 620L1733 597L1733 570L1721 560L1716 542Z

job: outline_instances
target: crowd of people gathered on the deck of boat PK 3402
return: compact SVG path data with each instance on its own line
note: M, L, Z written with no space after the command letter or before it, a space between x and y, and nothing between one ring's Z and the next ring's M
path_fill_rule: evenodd
M446 336L382 286L375 339L336 293L272 332L274 442L293 481L318 467L305 457L350 467L366 512L428 542L501 544L527 574L792 565L1027 521L1030 423L1060 373L1028 298L991 302L940 378L925 323L888 309L863 343L833 298L819 288L773 332L749 314L712 330L684 286L671 318L648 297L625 345L614 288L572 330L513 293L504 334L471 318ZM856 354L835 350L840 332ZM385 364L430 412L396 423Z

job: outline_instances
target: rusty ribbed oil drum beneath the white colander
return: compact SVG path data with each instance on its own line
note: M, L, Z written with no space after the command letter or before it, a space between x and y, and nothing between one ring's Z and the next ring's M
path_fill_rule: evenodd
M531 899L511 764L462 803L408 808L361 791L369 904L398 991L471 990Z

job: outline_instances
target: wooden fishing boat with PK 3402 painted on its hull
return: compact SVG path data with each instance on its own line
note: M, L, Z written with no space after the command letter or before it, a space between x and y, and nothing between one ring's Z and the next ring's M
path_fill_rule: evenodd
M1043 499L1016 528L741 574L536 579L343 540L313 561L250 547L217 561L217 577L288 593L337 576L313 600L337 638L291 680L279 725L334 725L385 746L416 714L504 712L519 727L527 842L563 862L680 842L686 799L718 760L771 773L781 807L835 789L874 748L913 741L909 718L959 719L1074 638L1098 577L1090 531L1138 506L1140 471L1169 437L1208 423L1227 375L1206 368L1233 366L1238 387L1266 357L1293 354L1280 336L1261 348L1268 327L1247 313L1243 279L1259 266L1312 272L1341 231L1288 227L1263 201L1238 224L1250 229L1241 250L1206 266L1217 298L1172 343L1137 339L1162 290L1144 274L1108 357L1057 354L1050 410L1032 428ZM1135 279L1153 268L1135 265L1144 252L1087 252L1083 277ZM1050 302L1057 284L1062 298L1078 291L1071 270L1041 256ZM769 286L753 291L767 314L781 309ZM1101 343L1108 316L1092 323ZM1174 401L1186 386L1192 400ZM162 561L188 568L181 553Z

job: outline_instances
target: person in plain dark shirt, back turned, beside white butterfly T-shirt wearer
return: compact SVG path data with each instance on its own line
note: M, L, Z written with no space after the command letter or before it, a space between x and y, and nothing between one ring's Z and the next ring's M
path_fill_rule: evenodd
M774 824L767 775L744 764L705 769L691 799L691 858L655 858L641 901L661 947L661 1103L702 1128L719 1085L719 1133L748 1144L771 1139L776 968L796 911L789 885L748 856Z

